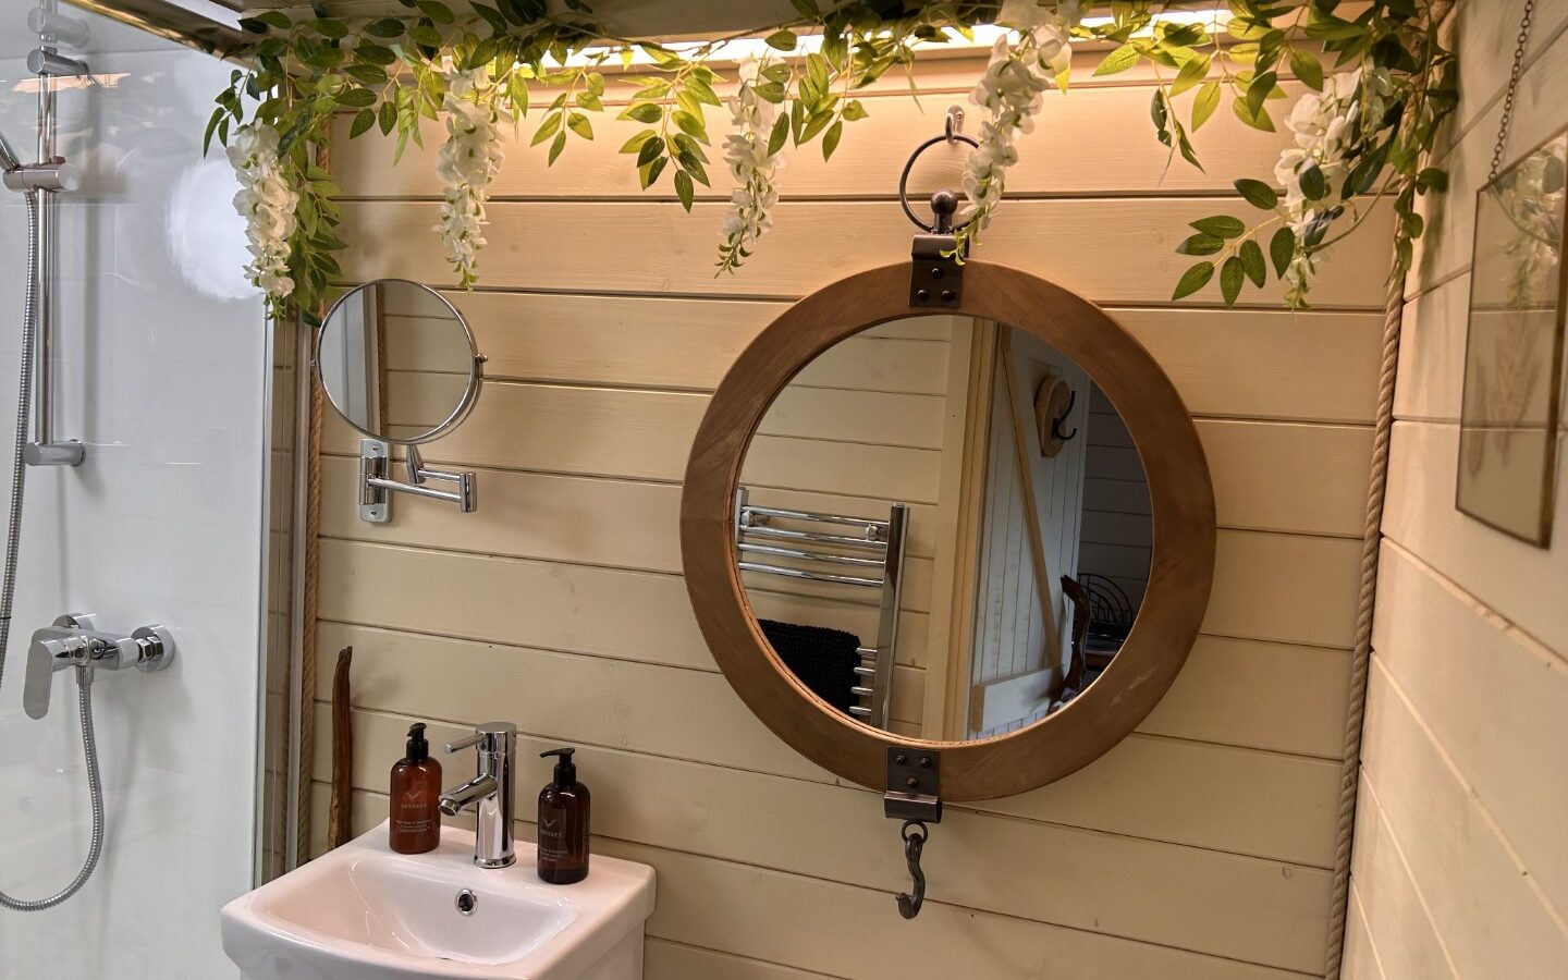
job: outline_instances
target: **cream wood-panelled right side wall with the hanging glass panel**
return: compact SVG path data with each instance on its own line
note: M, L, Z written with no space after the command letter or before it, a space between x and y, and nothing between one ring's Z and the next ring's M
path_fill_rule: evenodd
M1344 960L1358 980L1568 975L1568 480L1546 550L1454 508L1475 191L1521 8L1455 11L1450 193L1406 282ZM1565 31L1568 2L1538 2L1505 160L1568 127Z

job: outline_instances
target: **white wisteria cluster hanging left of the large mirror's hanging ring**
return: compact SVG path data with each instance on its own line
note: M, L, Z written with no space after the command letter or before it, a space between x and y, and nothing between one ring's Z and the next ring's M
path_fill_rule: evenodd
M784 155L768 152L778 108L757 94L764 67L764 61L742 63L740 86L729 100L735 132L724 140L724 162L739 187L729 194L731 210L724 215L720 273L735 271L751 254L762 232L773 227L773 207L779 202L775 174L784 166Z

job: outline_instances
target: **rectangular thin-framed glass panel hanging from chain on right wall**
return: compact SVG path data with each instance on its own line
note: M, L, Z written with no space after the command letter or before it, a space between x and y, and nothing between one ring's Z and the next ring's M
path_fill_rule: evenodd
M1548 140L1475 199L1458 506L1544 547L1563 356L1563 215L1568 132Z

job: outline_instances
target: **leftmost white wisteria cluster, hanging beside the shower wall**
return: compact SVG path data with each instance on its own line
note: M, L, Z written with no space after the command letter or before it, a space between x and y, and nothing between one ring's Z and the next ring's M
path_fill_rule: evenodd
M293 293L289 276L289 238L295 234L299 193L284 177L278 158L278 130L265 124L241 125L229 141L229 163L240 179L234 210L245 218L251 262L245 278L281 306Z

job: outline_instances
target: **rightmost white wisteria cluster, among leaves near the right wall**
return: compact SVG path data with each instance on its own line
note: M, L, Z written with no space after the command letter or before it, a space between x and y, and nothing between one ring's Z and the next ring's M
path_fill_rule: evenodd
M1306 93L1290 108L1284 125L1294 135L1294 146L1286 147L1275 163L1275 180L1284 187L1286 224L1295 234L1295 254L1284 270L1286 304L1292 309L1306 301L1306 293L1317 274L1317 260L1308 237L1314 223L1328 220L1336 207L1345 176L1350 168L1347 155L1361 138L1363 85L1359 72L1341 72L1323 80L1322 93ZM1322 176L1325 193L1317 201L1303 190L1303 177L1311 171ZM1317 179L1312 179L1317 182Z

